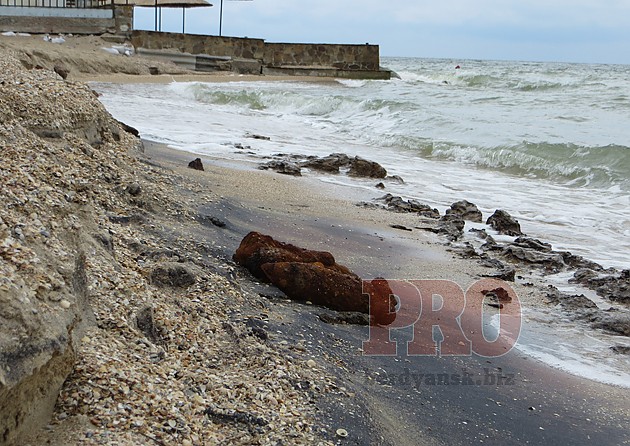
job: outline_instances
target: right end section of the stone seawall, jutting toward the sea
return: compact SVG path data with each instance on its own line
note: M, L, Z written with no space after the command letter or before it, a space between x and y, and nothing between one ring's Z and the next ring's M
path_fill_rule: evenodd
M377 71L378 45L265 43L267 67L332 67L338 70Z

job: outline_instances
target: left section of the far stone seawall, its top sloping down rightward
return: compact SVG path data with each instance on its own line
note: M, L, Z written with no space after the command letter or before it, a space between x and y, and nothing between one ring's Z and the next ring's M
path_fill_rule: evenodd
M131 43L147 50L177 50L182 53L258 59L264 56L265 41L239 37L133 31Z

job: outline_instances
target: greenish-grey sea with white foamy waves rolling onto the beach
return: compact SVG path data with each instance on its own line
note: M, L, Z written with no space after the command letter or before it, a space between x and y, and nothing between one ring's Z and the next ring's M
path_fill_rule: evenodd
M307 83L235 77L95 88L108 110L144 138L252 163L277 153L359 155L404 179L387 183L390 193L442 213L461 199L484 217L504 209L528 236L556 250L630 268L630 66L412 58L382 64L400 78ZM237 144L251 149L236 150ZM321 179L380 195L374 181ZM535 325L546 316L528 317ZM530 340L523 350L548 346L543 331L525 334ZM583 348L577 355L583 367L575 366L575 345L552 346L555 356L538 357L557 366L564 361L575 372L611 342L599 337ZM606 367L616 372L607 381L630 386L627 357L602 354L591 365L609 361ZM606 375L597 370L580 374Z

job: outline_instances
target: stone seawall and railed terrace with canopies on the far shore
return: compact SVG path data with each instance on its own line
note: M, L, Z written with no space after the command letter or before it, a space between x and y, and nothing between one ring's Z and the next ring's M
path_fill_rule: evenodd
M264 39L186 34L185 11L206 0L0 0L0 32L109 35L130 41L140 56L195 71L389 79L379 46L272 43ZM155 31L133 29L136 7L155 8ZM182 32L159 31L162 8L182 8Z

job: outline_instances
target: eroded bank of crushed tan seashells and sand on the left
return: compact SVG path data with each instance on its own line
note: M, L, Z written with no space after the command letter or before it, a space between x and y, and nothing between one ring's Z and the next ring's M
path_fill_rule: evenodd
M0 443L55 400L59 444L316 443L326 378L230 322L264 299L188 231L213 194L142 162L86 85L1 60Z

